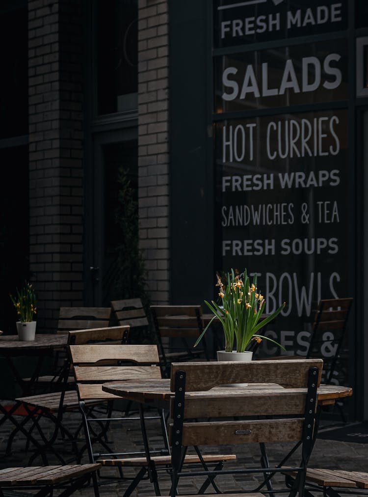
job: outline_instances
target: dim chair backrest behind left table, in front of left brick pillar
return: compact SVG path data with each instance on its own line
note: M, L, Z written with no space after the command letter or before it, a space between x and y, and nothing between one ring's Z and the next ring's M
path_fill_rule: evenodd
M111 312L111 307L61 307L57 332L108 327Z

